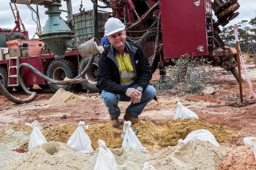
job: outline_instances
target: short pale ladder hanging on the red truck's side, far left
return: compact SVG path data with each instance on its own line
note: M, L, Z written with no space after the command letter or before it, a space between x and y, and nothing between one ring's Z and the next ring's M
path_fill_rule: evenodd
M16 65L12 65L12 60L16 60ZM15 64L15 63L14 63ZM8 71L8 86L19 86L20 85L20 81L19 81L19 77L18 77L18 69L19 69L19 65L20 65L20 57L10 57L9 60L9 71ZM12 68L16 69L16 75L12 75ZM11 79L17 79L16 84L11 84Z

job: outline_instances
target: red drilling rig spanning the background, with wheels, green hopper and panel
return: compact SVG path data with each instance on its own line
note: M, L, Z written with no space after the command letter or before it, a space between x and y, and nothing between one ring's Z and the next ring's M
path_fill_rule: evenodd
M97 0L91 0L96 9L94 8L90 21L100 22L99 25L95 24L97 22L90 22L94 28L98 25L99 31L94 31L89 37L83 36L88 33L87 26L84 26L88 20L82 19L89 12L80 10L79 14L73 15L71 0L65 1L67 10L59 9L61 0L11 0L12 3L18 4L44 5L47 8L45 14L48 14L44 29L38 31L37 35L44 43L44 52L50 53L21 57L19 63L30 64L54 80L64 80L64 77L73 79L79 76L82 72L80 70L87 66L90 58L85 57L85 61L77 51L77 44L82 44L93 37L106 40L103 37L105 21L108 17L117 17L125 24L127 41L138 43L144 49L152 72L159 68L160 74L164 75L165 72L162 70L165 66L174 65L176 59L186 54L185 56L205 57L213 66L231 71L238 80L236 50L226 46L219 37L219 26L227 25L239 14L236 12L239 8L237 0L99 0L105 6L99 6ZM110 8L112 12L97 15L97 7ZM67 12L67 21L60 17L61 12ZM213 15L217 16L217 21L213 19ZM97 62L98 58L95 57L93 63L88 64L90 69L83 78L88 78L89 81L81 83L92 93L97 92ZM79 68L79 63L82 68ZM12 74L9 60L0 61L0 79L9 91L12 84L20 85L17 82L18 78L16 81L8 80ZM17 72L16 74L18 75ZM25 85L38 84L42 88L50 86L54 92L59 88L79 90L82 87L79 83L48 83L26 67L20 74Z

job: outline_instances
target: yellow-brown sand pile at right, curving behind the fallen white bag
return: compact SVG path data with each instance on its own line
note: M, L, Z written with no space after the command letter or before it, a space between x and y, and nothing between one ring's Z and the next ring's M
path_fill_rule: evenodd
M133 126L138 129L138 139L142 141L147 148L165 148L175 146L179 139L185 139L190 132L198 129L210 131L218 143L226 142L238 135L225 126L209 124L201 119L176 119L165 123L163 126L157 126L151 120L140 121Z

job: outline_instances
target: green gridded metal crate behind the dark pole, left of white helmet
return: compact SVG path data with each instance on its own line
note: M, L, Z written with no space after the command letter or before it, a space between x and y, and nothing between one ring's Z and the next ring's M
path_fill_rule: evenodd
M98 11L99 40L104 37L104 25L108 12ZM73 14L78 46L94 37L93 10Z

